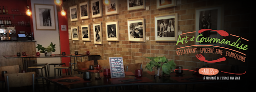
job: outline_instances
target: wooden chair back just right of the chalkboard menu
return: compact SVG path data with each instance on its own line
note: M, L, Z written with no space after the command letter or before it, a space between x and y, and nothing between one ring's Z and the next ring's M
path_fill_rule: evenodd
M135 72L136 69L142 69L142 63L126 64L123 67L126 72Z

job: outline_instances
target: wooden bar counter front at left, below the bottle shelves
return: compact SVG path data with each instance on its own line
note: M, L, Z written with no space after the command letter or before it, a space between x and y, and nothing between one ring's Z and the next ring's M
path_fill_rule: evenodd
M0 66L11 66L18 65L22 70L22 59L13 58L5 59L3 55L16 55L17 52L25 52L26 55L35 54L35 42L36 41L0 41ZM31 58L30 61L36 60L36 58Z

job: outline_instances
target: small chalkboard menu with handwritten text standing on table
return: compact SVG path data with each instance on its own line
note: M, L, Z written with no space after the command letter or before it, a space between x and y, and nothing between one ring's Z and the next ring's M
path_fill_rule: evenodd
M109 57L111 78L124 78L122 57Z

